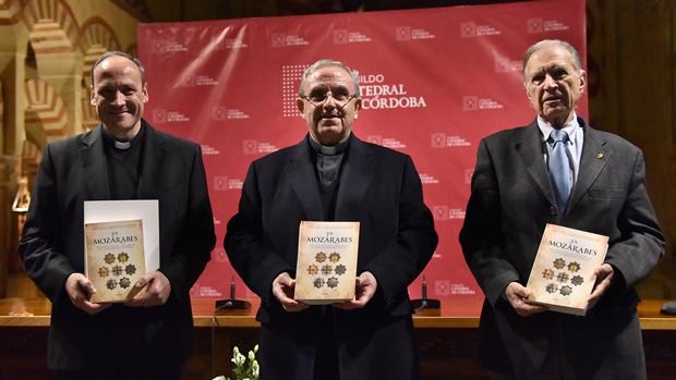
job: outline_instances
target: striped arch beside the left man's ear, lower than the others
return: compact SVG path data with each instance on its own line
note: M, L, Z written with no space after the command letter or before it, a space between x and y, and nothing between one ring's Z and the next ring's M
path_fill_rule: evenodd
M26 139L43 148L68 136L68 114L59 94L47 82L26 81Z

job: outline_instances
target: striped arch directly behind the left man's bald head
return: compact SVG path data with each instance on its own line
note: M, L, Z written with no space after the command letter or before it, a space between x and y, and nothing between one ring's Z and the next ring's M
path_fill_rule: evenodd
M89 88L92 78L89 71L96 59L106 51L120 50L120 41L110 25L101 17L95 16L82 25L80 49L84 56L82 77L85 88Z

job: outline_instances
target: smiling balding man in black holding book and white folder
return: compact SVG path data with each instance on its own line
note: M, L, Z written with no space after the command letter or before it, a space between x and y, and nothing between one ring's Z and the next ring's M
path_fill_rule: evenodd
M64 379L180 379L192 353L190 287L214 224L200 146L153 128L141 62L123 52L92 69L101 125L48 145L19 246L52 302L48 365ZM95 304L84 272L85 200L158 199L160 263L126 304Z

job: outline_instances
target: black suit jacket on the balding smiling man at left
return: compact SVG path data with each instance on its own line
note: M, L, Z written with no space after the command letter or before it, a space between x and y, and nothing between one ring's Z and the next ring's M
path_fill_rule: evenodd
M192 353L188 292L216 240L201 149L143 123L138 198L159 199L159 270L169 279L171 295L162 306L113 305L95 316L72 305L64 283L71 273L84 273L84 201L110 198L102 126L48 145L19 252L28 275L52 302L52 368L82 368L107 355L159 361ZM129 351L119 351L123 347Z

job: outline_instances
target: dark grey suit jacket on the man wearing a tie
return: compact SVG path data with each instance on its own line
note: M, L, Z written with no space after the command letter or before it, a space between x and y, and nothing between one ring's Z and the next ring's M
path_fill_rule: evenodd
M562 350L581 379L644 377L633 285L654 268L665 242L645 192L643 155L579 122L582 157L565 211L555 206L536 122L498 132L479 147L460 243L486 296L481 359L495 370L516 370L517 378L542 366L552 331L563 332ZM550 311L521 318L504 298L508 283L528 282L545 223L609 236L605 262L615 268L615 281L583 318Z

